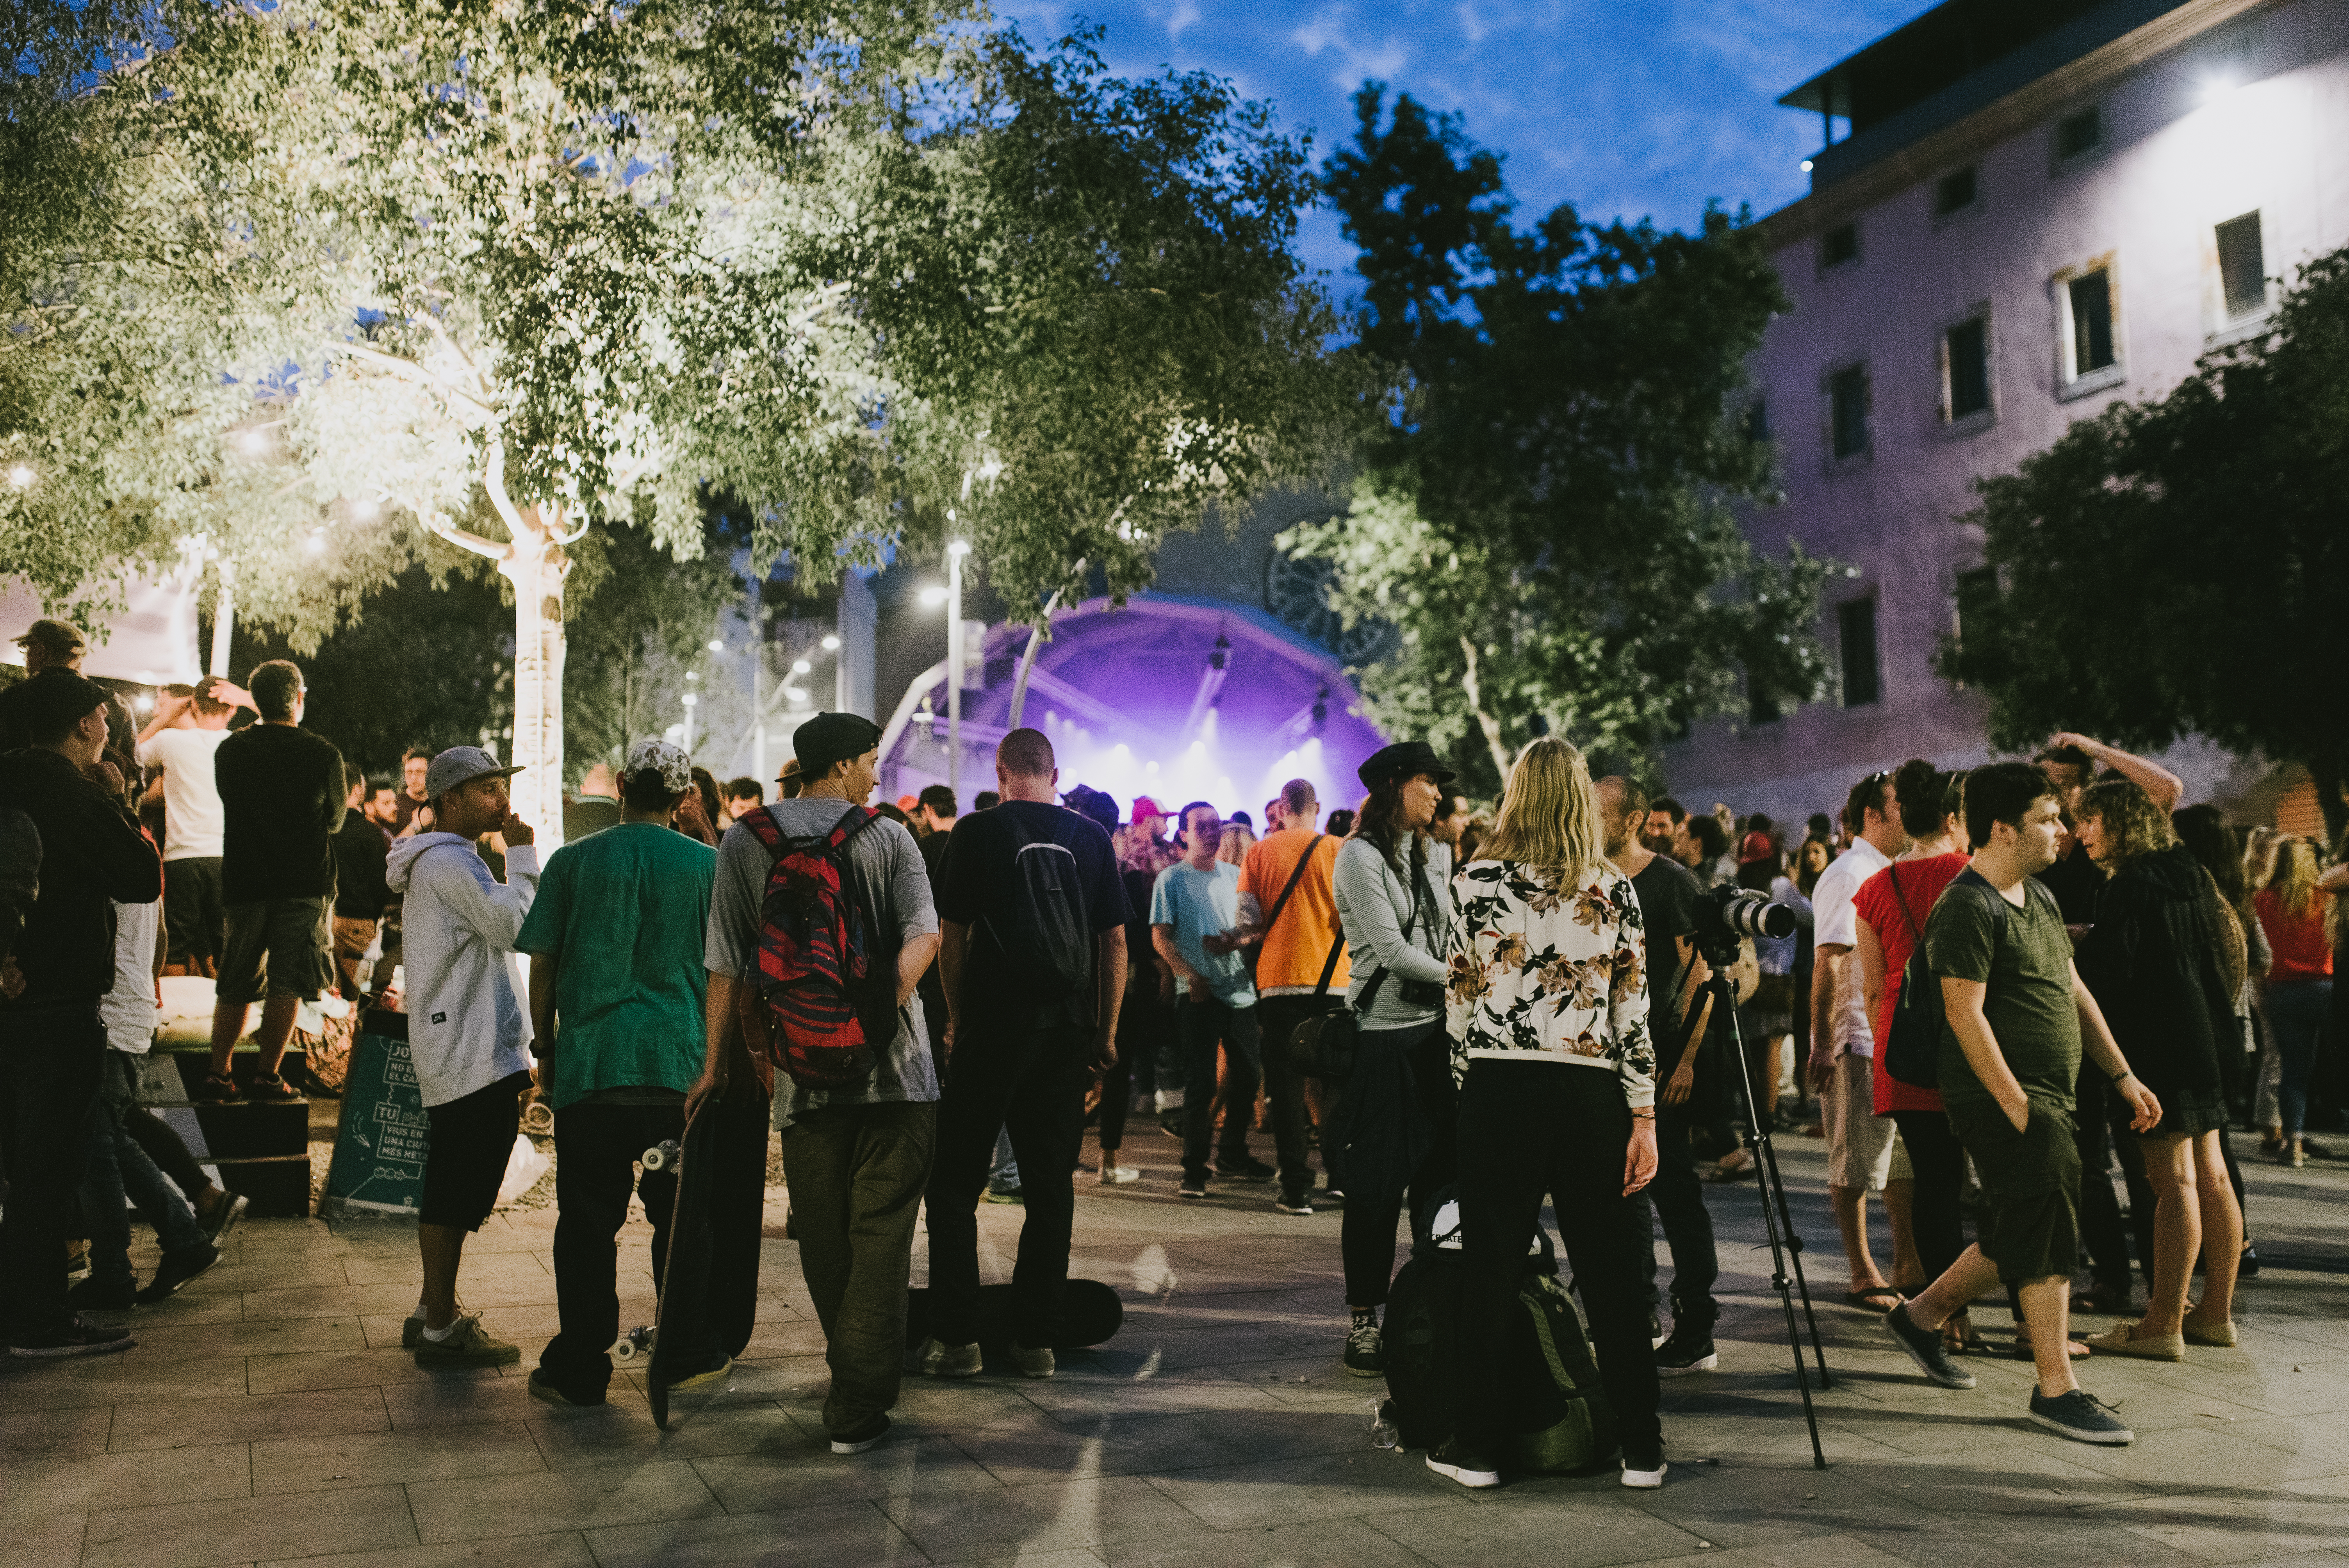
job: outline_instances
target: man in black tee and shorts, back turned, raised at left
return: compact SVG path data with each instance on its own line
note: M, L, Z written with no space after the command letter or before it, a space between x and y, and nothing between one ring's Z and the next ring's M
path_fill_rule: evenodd
M211 1073L195 1099L298 1099L277 1075L294 1014L334 984L334 833L343 826L343 753L301 728L301 669L256 664L247 678L261 723L221 742L211 758L221 786L221 904L228 944L211 1009ZM268 998L263 1002L263 998ZM228 1061L247 1009L261 1007L258 1073L240 1089Z

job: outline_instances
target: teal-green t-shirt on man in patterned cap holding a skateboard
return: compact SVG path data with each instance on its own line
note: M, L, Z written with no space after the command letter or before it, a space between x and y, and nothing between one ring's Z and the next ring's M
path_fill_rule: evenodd
M702 1075L716 866L716 850L651 822L604 829L547 861L514 948L561 965L550 1106L625 1084L691 1089Z

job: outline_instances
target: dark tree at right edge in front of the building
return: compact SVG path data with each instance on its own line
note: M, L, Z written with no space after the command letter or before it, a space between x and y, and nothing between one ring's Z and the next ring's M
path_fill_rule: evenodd
M1999 746L2051 730L2203 735L2297 761L2349 826L2349 249L2168 397L2112 404L1980 481L2004 592L1966 606L1943 674L1985 690Z

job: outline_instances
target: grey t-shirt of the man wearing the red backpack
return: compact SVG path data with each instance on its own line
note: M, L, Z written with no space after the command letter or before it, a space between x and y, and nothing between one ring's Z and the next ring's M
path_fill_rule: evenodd
M799 798L766 807L785 838L813 838L839 824L846 800ZM709 897L709 937L705 967L712 974L742 979L759 955L759 908L766 901L766 876L775 857L759 836L740 822L719 840L719 880ZM930 904L930 873L921 864L914 836L895 822L874 822L848 840L848 892L871 920L874 962L895 967L897 948L937 930ZM775 1127L824 1106L876 1106L883 1101L935 1101L937 1068L930 1063L930 1033L921 1019L921 993L897 1009L897 1038L874 1061L862 1089L801 1089L787 1073L775 1073Z

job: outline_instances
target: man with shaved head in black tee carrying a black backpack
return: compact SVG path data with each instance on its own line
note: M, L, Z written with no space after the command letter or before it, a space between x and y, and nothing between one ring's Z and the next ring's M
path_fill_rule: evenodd
M1052 1331L1069 1279L1076 1221L1071 1171L1085 1136L1085 1084L1118 1054L1125 991L1125 887L1109 833L1057 805L1059 770L1041 730L1012 730L996 749L1003 803L954 824L937 897L944 932L947 1089L937 1106L930 1169L930 1343L923 1371L980 1371L980 1190L996 1131L1010 1131L1027 1221L1012 1270L1017 1359L1029 1378L1052 1376ZM1092 934L1092 974L1059 995L1012 979L1003 946L1022 859L1043 857Z

